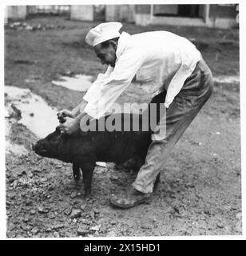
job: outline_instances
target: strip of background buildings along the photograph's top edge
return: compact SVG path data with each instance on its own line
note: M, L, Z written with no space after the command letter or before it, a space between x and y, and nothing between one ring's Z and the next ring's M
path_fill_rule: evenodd
M237 25L236 4L212 5L73 5L7 6L7 19L24 19L35 14L66 14L73 20L120 21L141 26L209 26L231 28Z

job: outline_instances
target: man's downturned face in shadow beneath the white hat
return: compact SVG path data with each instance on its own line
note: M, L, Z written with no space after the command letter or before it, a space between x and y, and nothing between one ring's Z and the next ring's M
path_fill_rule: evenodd
M101 46L101 43L94 46L94 51L97 57L100 58L101 64L115 66L116 62L116 48L117 45L114 42L109 43L109 46Z

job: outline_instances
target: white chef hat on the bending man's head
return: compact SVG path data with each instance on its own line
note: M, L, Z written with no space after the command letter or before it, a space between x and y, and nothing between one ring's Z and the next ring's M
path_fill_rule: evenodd
M123 25L120 22L101 23L89 30L86 34L85 42L89 44L89 46L96 46L101 42L117 38L121 35L119 33L121 26Z

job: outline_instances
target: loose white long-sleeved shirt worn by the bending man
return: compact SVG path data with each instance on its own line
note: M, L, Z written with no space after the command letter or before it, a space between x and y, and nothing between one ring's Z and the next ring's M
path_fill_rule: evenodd
M168 31L123 32L116 55L114 68L109 66L105 74L99 74L84 96L88 102L84 111L93 118L105 115L137 71L147 74L146 81L154 90L161 91L165 86L168 108L201 58L192 42Z

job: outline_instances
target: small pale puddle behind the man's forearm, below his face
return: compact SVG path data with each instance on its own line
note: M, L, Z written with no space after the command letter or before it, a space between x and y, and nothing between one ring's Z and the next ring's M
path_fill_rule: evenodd
M86 91L92 85L93 77L77 74L75 77L61 77L62 81L52 81L55 86L63 86L69 90Z

